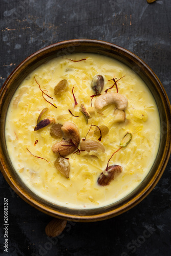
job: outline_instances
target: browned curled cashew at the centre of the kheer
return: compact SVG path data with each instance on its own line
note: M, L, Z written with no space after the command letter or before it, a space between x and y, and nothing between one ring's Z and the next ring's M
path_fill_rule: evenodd
M79 144L80 136L77 126L71 122L63 123L61 127L63 140L52 146L54 153L60 153L65 157L73 153Z

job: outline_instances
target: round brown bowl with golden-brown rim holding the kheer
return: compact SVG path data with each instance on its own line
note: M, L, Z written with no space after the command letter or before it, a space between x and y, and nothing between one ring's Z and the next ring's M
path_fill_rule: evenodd
M132 193L127 195L120 201L95 209L72 209L54 205L37 195L35 195L19 178L8 156L5 141L5 121L9 103L19 84L34 69L45 63L46 61L61 55L71 53L96 53L115 58L125 65L133 69L146 83L147 87L153 94L160 115L161 122L161 140L159 151L153 167L141 184ZM170 144L170 127L171 113L170 103L165 90L154 72L135 54L127 51L119 46L104 41L76 39L58 42L54 45L45 47L31 56L26 58L15 70L10 74L4 83L0 93L0 167L1 171L14 191L23 198L27 203L34 206L38 210L45 212L55 218L67 219L72 221L91 222L108 219L124 211L129 210L141 200L143 200L155 187L161 178L166 164L169 159Z

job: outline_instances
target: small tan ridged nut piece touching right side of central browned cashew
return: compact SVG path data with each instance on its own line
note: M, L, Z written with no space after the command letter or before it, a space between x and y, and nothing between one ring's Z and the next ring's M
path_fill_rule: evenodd
M102 152L105 151L104 146L102 144L100 144L96 140L84 140L84 141L81 141L80 149L81 150L86 150L87 152L97 151L97 150L101 150Z

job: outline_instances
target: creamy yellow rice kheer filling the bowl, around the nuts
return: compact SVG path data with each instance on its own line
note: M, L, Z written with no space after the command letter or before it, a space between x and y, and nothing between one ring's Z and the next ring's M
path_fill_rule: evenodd
M118 93L127 99L125 121L115 120L115 103L105 105L100 110L94 108L95 100L100 97L91 97L95 94L91 82L96 75L104 78L101 95L113 86L114 80L111 79L119 79L117 88L114 86L107 94L117 93L118 89ZM68 82L67 88L59 95L54 95L54 88L63 79ZM78 104L75 104L74 96ZM82 103L91 115L88 123L79 111ZM60 173L54 164L57 156L52 146L62 139L50 135L52 123L34 131L37 118L45 108L48 108L45 119L54 118L56 124L61 125L65 122L74 123L79 131L80 142L87 135L91 124L105 125L109 129L108 134L98 141L99 135L94 133L96 126L92 126L86 138L102 144L104 152L99 149L66 156L70 163L69 178ZM127 132L132 134L130 143L116 152ZM159 142L159 113L147 86L123 63L96 54L57 57L34 70L15 92L6 119L8 153L20 178L36 195L54 204L73 208L101 207L130 194L151 169ZM110 158L109 166L119 165L122 172L109 185L101 186L97 180Z

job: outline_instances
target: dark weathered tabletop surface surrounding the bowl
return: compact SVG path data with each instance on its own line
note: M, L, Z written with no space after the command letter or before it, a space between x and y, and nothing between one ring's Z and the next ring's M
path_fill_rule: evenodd
M90 38L112 42L142 58L157 74L171 100L171 1L0 0L1 86L28 55L54 42ZM20 199L2 174L1 255L167 256L171 254L171 160L140 204L110 220L68 223L49 240L51 217ZM9 249L3 252L4 197L9 203ZM148 231L146 231L148 230Z

